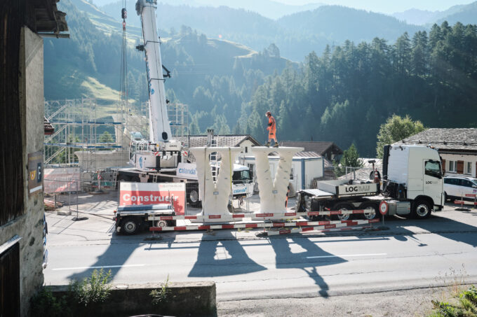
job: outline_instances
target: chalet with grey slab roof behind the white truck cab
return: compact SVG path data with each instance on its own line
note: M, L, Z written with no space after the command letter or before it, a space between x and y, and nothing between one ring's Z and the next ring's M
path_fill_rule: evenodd
M477 129L426 129L396 144L431 145L441 155L445 176L477 177Z

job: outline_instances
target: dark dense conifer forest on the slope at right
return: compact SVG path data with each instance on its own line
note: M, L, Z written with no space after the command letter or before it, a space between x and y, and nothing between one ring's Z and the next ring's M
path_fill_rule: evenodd
M393 113L427 127L476 127L477 26L444 22L394 45L375 38L311 52L300 71L285 69L258 87L242 131L264 139L269 109L279 140L354 142L365 156L375 155L379 125Z

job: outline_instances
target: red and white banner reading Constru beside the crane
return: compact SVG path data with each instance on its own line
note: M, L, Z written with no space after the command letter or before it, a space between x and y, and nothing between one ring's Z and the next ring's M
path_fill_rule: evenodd
M119 183L119 205L170 204L176 215L185 213L184 183Z

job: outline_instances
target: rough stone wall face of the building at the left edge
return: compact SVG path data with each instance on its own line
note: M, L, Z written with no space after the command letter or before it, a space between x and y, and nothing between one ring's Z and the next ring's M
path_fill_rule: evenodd
M29 300L43 284L43 193L29 197L28 153L43 150L43 39L27 27L20 41L20 117L25 166L22 216L0 229L0 245L15 234L20 240L20 315L27 316Z

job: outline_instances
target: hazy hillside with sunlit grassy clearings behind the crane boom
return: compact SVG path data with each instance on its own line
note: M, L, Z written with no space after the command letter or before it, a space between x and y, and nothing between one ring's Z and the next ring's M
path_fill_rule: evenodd
M114 24L91 20L91 13L78 10L75 3L87 4L81 0L58 3L60 10L67 12L71 38L45 38L44 41L45 69L48 70L45 97L48 100L95 97L100 104L111 105L119 100L120 24L116 31L109 32ZM90 12L90 6L86 9ZM275 71L281 73L287 62L274 45L258 53L237 43L207 38L190 27L181 27L174 33L160 30L159 34L163 42L163 63L172 76L166 80L168 99L189 104L192 114L203 112L196 115L201 131L208 127L219 131L224 126L221 130L224 132L229 129L228 125L234 127L230 122L236 122L241 105L250 101L265 76ZM135 50L131 43L128 83L133 108L148 98L144 58L144 53Z

